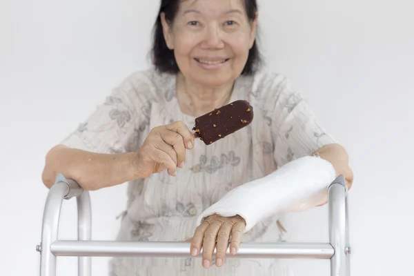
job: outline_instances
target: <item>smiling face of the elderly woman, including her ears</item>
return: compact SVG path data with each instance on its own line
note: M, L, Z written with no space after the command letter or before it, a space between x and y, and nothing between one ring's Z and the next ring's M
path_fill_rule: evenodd
M168 48L181 73L203 86L225 86L239 77L255 41L244 0L183 0L172 26L161 14Z

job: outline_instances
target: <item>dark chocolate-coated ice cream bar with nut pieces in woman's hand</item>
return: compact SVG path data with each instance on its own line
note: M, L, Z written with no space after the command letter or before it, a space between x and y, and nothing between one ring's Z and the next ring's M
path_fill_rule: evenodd
M195 119L195 136L210 145L248 126L253 121L253 108L243 100L233 101Z

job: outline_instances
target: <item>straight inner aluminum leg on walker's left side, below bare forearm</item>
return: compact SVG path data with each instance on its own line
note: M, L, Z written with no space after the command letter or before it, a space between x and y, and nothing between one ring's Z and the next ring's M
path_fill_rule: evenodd
M90 196L87 190L84 190L77 196L77 213L78 213L78 239L80 241L90 241L92 232L92 209L90 206ZM78 257L78 275L92 275L91 257Z

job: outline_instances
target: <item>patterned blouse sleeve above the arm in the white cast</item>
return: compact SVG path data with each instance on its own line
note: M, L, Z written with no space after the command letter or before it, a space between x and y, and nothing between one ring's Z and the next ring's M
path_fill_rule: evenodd
M292 89L285 77L272 82L266 100L270 109L273 156L279 166L337 141L321 126L301 93Z

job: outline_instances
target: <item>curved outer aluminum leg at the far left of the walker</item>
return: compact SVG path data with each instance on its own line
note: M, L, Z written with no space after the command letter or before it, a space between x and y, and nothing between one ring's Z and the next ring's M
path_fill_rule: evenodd
M58 182L50 188L46 198L39 248L40 276L56 276L56 256L50 252L50 245L57 240L62 201L68 193L69 186L64 182Z

